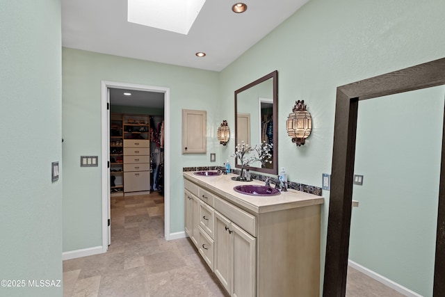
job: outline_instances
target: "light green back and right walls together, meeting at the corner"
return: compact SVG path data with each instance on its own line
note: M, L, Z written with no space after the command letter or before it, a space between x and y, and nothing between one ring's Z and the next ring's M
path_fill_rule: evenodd
M291 181L321 186L321 174L331 168L337 86L442 58L444 10L445 2L433 0L379 5L371 0L311 0L220 73L63 49L63 250L102 243L100 171L79 168L81 154L100 156L101 80L170 87L170 224L171 232L181 232L181 168L210 164L210 152L217 153L217 163L231 159L234 90L278 70L279 167L286 168ZM286 135L285 121L298 99L307 103L314 127L306 145L297 148ZM181 155L181 109L207 110L207 154ZM224 119L233 127L226 147L214 141ZM322 279L329 191L323 196Z

